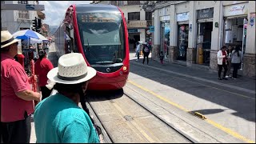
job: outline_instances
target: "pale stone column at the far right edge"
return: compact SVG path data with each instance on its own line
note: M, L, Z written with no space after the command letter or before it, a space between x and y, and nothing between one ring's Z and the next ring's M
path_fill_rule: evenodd
M246 48L243 55L243 74L255 77L255 1L248 2L248 23L246 27Z

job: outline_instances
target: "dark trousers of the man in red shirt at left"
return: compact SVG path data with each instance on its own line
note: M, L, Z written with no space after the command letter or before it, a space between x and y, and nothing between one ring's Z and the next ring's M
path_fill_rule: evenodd
M1 122L3 143L30 143L31 117L15 122Z

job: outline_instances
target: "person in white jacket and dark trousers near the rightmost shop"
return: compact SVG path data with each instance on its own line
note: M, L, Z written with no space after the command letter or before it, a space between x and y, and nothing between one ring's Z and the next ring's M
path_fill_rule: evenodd
M218 51L217 54L217 61L218 61L218 79L222 80L226 78L226 71L227 71L227 67L226 67L226 57L227 57L227 53L226 53L226 46L222 46L221 50ZM224 67L224 74L223 74L223 78L221 77L222 75L222 67Z

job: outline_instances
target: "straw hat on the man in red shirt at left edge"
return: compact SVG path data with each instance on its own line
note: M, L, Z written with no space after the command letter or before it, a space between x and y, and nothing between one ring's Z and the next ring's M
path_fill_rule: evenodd
M8 30L1 31L1 49L18 41L19 40L14 38Z

